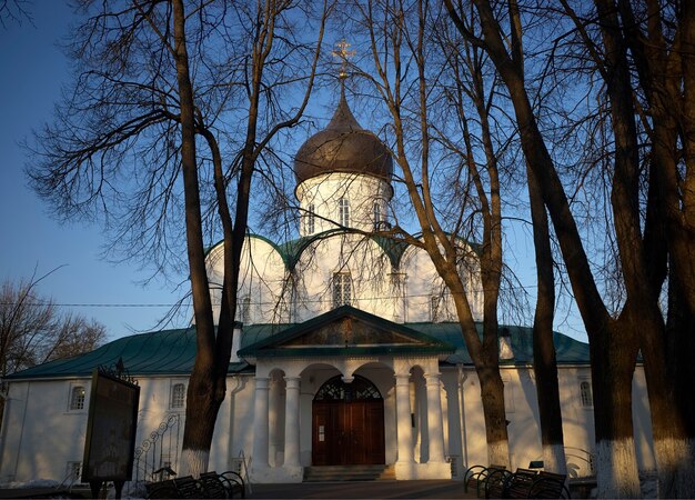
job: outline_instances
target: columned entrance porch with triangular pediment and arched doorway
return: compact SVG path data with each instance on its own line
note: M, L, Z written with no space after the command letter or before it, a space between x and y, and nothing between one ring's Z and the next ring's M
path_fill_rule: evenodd
M352 308L292 327L240 356L255 364L254 482L304 467L393 464L396 479L450 479L437 339Z

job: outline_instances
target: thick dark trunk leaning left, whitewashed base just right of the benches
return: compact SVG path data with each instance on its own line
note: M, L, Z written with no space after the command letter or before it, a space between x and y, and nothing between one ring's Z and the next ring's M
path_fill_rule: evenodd
M524 156L538 181L544 203L553 220L577 307L590 337L593 386L594 390L598 390L595 423L597 462L602 469L598 480L603 482L600 483L600 491L608 497L638 496L632 408L625 401L625 398L627 402L632 401L631 382L635 353L623 348L622 343L616 343L617 339L625 338L627 344L633 344L634 332L608 328L611 320L607 310L596 288L564 188L538 130L523 72L506 51L490 1L474 0L474 3L481 20L485 50L510 91ZM470 34L462 26L452 2L445 0L445 4L462 33ZM620 478L611 472L618 469L622 474Z

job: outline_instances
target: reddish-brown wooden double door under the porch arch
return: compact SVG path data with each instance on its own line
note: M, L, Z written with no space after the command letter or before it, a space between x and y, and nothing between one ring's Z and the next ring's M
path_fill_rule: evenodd
M312 463L384 463L384 401L314 401Z

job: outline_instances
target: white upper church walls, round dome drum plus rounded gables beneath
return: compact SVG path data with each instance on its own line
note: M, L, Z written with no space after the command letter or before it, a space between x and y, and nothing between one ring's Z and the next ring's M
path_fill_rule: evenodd
M333 218L331 210L338 207L338 199L349 194L357 200L351 206L355 227L371 231L373 224L373 201L384 203L390 187L384 181L369 176L332 173L310 179L298 188L298 196L322 204L322 217ZM309 198L308 198L309 197ZM311 198L313 197L313 198ZM357 208L360 208L357 210ZM320 211L319 208L316 211ZM369 219L369 223L360 220ZM321 220L316 218L316 221ZM334 224L324 221L318 223L316 231L332 229ZM361 227L363 224L364 227ZM208 270L211 294L219 316L223 246L219 244L208 254ZM473 256L473 251L465 250ZM292 276L290 276L292 272ZM439 277L427 253L410 247L400 266L393 268L383 249L373 240L359 234L336 233L318 238L302 252L299 262L288 270L278 249L260 237L250 237L244 241L239 283L238 320L241 318L241 304L244 297L251 302L251 323L301 322L333 309L332 279L336 272L349 272L352 277L352 306L395 322L431 321L433 296L441 296L437 321L455 321L456 313L442 279ZM482 318L482 292L479 266L472 259L461 267L467 298L473 316Z

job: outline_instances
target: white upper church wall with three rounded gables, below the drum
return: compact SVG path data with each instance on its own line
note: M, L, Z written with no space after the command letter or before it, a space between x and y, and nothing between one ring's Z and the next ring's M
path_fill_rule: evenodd
M223 276L222 246L208 257L211 283ZM441 294L439 321L456 320L451 296L427 253L415 247L406 250L399 269L394 269L383 249L359 234L333 234L310 243L294 269L294 288L276 249L268 241L252 237L245 240L240 287L240 303L251 299L248 323L302 322L333 309L332 280L336 272L352 278L352 306L394 322L431 321L431 298ZM482 311L481 294L474 292L476 278L462 271L475 319ZM472 280L472 281L471 281ZM211 290L215 316L219 316L221 291ZM239 310L240 311L240 310ZM238 319L239 314L238 313Z

